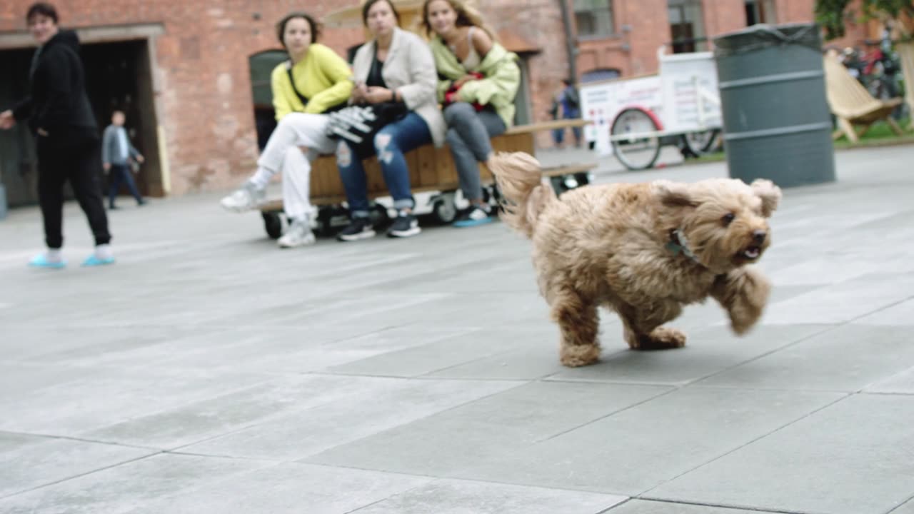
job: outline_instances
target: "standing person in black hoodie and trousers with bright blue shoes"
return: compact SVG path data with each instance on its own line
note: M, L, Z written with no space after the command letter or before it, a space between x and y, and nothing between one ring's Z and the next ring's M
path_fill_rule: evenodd
M94 266L114 262L108 218L101 198L101 142L98 124L86 95L80 42L71 30L60 30L57 10L39 2L29 7L26 20L38 43L29 70L31 95L0 112L0 128L28 119L37 136L38 203L45 225L46 252L29 265L62 268L63 187L69 180L86 213L95 252L83 262Z

